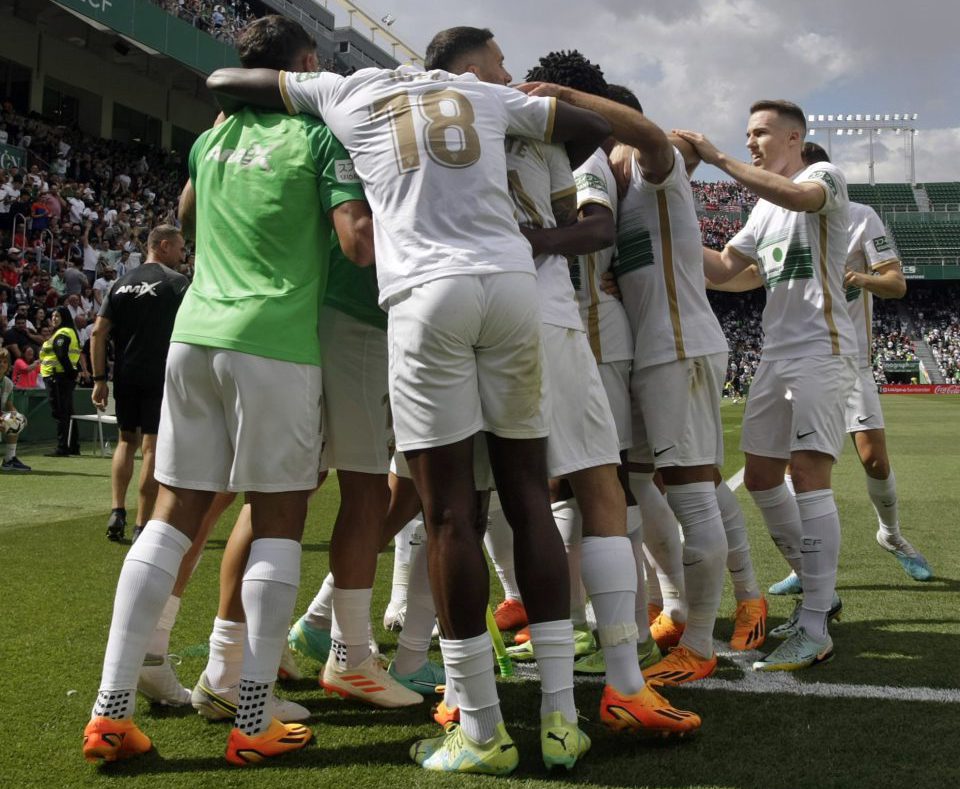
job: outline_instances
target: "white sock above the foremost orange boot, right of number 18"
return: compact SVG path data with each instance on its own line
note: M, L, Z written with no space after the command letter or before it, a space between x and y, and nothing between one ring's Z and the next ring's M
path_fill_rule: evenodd
M593 601L607 683L621 693L644 685L637 660L637 566L626 537L583 538L583 585Z

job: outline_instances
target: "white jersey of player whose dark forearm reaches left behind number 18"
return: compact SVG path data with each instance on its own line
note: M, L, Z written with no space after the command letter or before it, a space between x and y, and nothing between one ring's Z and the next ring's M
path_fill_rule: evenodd
M602 148L574 171L577 181L577 209L594 204L608 208L617 221L617 182ZM577 289L580 318L587 330L590 350L597 362L623 362L633 359L633 331L623 304L606 293L601 285L604 274L614 265L614 244L589 255L580 255L571 268Z

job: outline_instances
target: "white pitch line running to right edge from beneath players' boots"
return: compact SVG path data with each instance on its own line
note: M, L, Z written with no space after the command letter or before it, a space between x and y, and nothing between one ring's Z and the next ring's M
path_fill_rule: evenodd
M960 689L895 687L891 685L850 685L833 682L801 682L790 671L754 671L753 661L762 653L731 652L722 641L715 641L719 656L728 658L743 670L740 679L701 679L684 685L691 690L723 690L729 693L758 693L782 696L816 696L819 698L883 699L895 701L932 701L939 704L960 704ZM539 677L536 663L514 663L515 675L522 679ZM816 669L814 669L816 671ZM809 676L806 675L806 676ZM574 676L579 684L595 685L603 682L603 675Z

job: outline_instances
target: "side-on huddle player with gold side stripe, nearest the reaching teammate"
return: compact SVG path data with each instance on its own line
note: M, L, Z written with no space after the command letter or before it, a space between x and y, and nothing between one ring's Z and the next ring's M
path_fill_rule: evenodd
M590 108L604 101L569 90L559 95ZM643 132L633 141L630 185L620 202L615 270L635 332L633 457L661 471L685 535L687 624L679 644L646 672L676 684L709 676L716 666L713 627L727 540L714 474L723 462L719 399L727 347L706 299L686 160L649 120ZM759 598L759 589L752 591Z

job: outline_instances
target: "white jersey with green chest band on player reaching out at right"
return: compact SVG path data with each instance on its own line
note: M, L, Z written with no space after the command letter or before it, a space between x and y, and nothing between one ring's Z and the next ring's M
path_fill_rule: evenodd
M850 235L847 182L819 162L794 177L826 195L815 213L789 211L761 200L727 244L756 263L767 288L762 359L856 356L857 337L844 300L843 272Z

